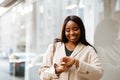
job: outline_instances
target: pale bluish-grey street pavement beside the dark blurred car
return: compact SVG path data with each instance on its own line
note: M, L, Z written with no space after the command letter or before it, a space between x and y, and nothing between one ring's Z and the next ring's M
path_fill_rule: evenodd
M0 80L24 80L24 77L10 75L8 59L0 58Z

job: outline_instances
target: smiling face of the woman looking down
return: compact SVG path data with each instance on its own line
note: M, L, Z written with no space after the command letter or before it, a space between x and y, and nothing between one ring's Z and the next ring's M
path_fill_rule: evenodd
M77 43L80 38L79 26L73 21L68 21L65 27L65 35L69 42Z

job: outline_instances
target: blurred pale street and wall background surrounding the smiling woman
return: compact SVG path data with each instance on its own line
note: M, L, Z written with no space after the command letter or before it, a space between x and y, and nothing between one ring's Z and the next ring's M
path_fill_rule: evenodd
M0 0L0 80L40 80L42 56L68 15L82 18L101 80L119 80L120 0Z

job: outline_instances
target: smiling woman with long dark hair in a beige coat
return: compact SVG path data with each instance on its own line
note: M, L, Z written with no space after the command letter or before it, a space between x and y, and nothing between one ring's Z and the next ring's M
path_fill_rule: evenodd
M49 45L40 67L41 80L99 80L102 66L85 37L82 20L75 15L66 17L61 38Z

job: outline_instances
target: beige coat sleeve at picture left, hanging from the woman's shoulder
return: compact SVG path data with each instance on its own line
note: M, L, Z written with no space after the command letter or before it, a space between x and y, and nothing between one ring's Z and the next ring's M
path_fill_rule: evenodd
M43 62L40 66L40 79L41 80L50 80L53 78L58 78L55 74L55 69L52 64L53 61L53 44L49 45L45 55L43 56Z

